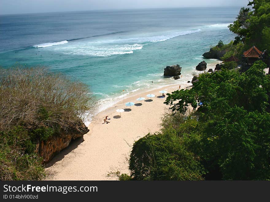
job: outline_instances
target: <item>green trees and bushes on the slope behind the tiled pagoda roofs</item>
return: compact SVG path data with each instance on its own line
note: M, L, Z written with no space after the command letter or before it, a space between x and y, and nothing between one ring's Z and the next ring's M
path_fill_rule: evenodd
M229 44L220 41L212 47L215 51L225 52L221 60L232 55L241 58L243 51L254 45L259 50L270 50L270 1L254 0L248 6L253 9L242 7L236 20L228 26L236 34L234 41Z

